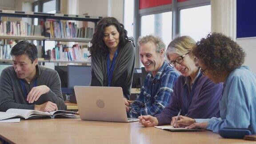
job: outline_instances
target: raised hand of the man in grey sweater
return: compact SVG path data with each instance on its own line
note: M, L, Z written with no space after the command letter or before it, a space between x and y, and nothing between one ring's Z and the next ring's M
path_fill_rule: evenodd
M50 88L46 85L40 85L31 89L28 93L27 101L28 103L33 103L38 100L42 94L45 94L50 91Z

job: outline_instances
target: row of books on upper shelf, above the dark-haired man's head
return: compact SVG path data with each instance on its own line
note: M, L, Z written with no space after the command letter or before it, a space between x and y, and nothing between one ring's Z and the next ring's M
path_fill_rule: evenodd
M24 21L0 21L0 36L41 36L42 25Z

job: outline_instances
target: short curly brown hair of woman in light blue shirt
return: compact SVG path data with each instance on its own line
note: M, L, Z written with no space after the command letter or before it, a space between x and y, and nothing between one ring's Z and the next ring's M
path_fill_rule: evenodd
M212 76L221 76L221 73L231 72L241 66L246 55L235 41L216 32L198 41L192 53L201 60Z

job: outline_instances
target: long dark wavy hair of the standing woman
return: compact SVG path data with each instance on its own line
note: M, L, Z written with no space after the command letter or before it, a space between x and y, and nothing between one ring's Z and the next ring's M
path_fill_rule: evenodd
M114 25L119 32L119 46L123 47L129 40L133 42L133 38L128 38L127 31L124 29L124 25L119 23L114 17L104 17L99 21L96 26L95 32L92 36L92 46L89 48L91 53L90 56L104 55L106 56L109 52L107 45L103 41L104 28L110 25Z

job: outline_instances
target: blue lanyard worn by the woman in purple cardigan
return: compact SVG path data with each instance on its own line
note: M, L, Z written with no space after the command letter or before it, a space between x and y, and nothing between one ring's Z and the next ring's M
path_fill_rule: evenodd
M192 98L193 98L193 96L194 96L195 89L196 89L196 84L197 84L197 82L198 82L198 80L199 80L199 78L200 78L201 76L202 76L202 73L199 74L199 76L197 77L195 83L193 84L190 95L189 95L188 97L186 97L186 96L187 96L186 94L183 95L183 96L184 96L184 101L185 101L184 107L185 107L185 113L186 113L186 114L188 113L188 107L189 107L189 105L191 104ZM188 86L187 86L187 84L185 85L185 89L186 89L185 92L188 92Z

